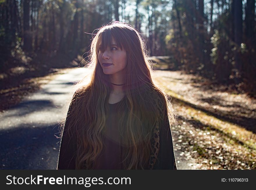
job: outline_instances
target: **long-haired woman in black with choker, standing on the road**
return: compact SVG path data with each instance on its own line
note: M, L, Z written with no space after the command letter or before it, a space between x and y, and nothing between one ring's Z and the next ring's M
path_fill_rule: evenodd
M168 95L152 81L145 44L121 22L91 44L90 82L74 93L57 169L177 169Z

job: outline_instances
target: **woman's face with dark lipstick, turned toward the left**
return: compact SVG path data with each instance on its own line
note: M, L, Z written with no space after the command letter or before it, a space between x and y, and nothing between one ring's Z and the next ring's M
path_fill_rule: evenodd
M118 47L112 38L111 47L107 47L105 51L99 47L98 59L103 73L106 75L125 74L127 65L126 51L124 48Z

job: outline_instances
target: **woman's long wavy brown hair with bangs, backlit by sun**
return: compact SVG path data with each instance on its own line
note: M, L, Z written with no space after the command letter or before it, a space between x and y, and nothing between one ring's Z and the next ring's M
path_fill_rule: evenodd
M125 97L117 111L120 144L125 147L121 154L122 169L148 169L156 124L165 114L170 126L175 124L175 112L170 97L152 80L152 63L147 59L141 34L127 23L115 21L98 29L89 55L90 80L84 84L84 78L77 84L67 115L70 125L65 130L77 137L76 169L94 169L103 149L102 133L111 91L108 75L103 73L97 55L99 46L102 50L111 46L112 37L127 52Z

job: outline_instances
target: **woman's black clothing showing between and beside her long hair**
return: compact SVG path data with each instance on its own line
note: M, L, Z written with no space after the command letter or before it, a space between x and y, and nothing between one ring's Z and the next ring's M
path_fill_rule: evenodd
M106 134L109 134L110 136L111 131L116 132L118 118L115 117L115 108L118 103L109 104L110 114L107 114L106 117L106 129L108 130ZM72 105L74 106L74 104L70 105L67 115L72 111ZM67 116L65 121L57 169L75 169L77 139L74 136L70 137L68 135L66 130L67 127L71 127L69 116ZM118 144L117 141L111 140L118 134L115 133L110 138L109 135L106 135L108 137L103 138L103 143L105 144L104 151L97 159L100 164L95 169L121 169L119 164L120 160L118 158L120 157L120 150L122 150L122 148L118 148L121 146L119 146L120 144ZM148 169L177 169L167 113L165 114L164 120L158 122L155 127L154 138L151 140L151 146L153 148L153 152L151 152Z

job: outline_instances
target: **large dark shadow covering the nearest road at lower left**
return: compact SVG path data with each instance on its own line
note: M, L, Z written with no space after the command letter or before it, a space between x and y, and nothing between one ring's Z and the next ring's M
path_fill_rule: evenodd
M58 126L30 124L0 132L0 169L56 169ZM56 135L56 136L55 136Z

